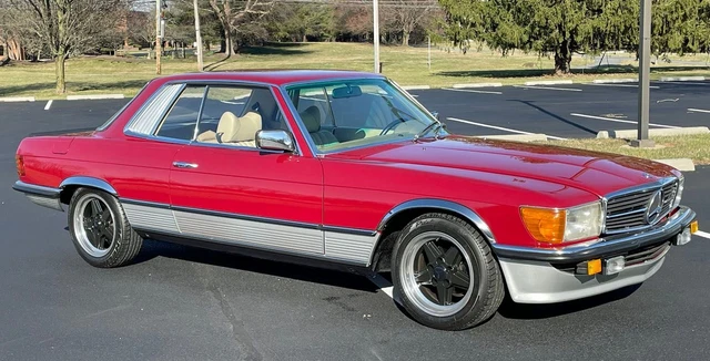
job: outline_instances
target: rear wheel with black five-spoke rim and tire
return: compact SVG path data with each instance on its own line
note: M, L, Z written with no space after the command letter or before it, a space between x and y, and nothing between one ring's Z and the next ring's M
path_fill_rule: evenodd
M94 188L77 189L68 214L74 247L91 266L124 266L141 250L143 239L131 228L119 200L108 193Z

